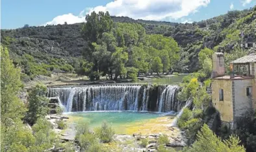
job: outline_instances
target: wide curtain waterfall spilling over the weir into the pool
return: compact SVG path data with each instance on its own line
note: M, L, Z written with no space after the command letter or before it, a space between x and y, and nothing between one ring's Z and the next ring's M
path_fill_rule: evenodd
M177 85L86 85L49 87L47 97L58 97L65 112L179 110Z

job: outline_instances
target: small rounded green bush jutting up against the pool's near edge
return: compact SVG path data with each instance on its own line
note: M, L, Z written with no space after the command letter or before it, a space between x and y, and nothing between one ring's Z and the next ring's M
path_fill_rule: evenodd
M101 127L96 129L96 135L99 136L102 142L110 142L114 136L114 130L104 121Z

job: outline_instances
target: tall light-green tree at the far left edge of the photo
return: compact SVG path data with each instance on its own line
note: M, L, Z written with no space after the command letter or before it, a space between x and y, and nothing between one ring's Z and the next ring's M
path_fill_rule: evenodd
M8 126L10 120L23 117L26 109L19 100L21 91L20 69L14 67L8 50L1 46L1 123Z

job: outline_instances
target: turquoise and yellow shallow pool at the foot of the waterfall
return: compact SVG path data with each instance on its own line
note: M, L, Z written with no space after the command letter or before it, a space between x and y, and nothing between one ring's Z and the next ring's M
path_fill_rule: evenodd
M172 124L173 115L149 113L149 112L130 112L130 111L96 111L83 113L66 114L72 124L79 121L89 122L91 129L100 127L103 121L107 121L117 134L132 135L133 133L142 133L148 135L151 133L167 133L168 126Z

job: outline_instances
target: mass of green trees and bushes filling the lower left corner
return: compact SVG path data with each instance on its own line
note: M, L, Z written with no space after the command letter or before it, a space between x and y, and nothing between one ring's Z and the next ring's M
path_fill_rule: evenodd
M35 87L29 93L31 103L27 106L18 98L21 88L20 69L14 67L8 50L1 46L1 151L32 152L49 149L57 136L44 118L47 112L45 105L40 103L45 100ZM28 119L25 116L29 116ZM24 124L27 120L33 124L32 128Z

